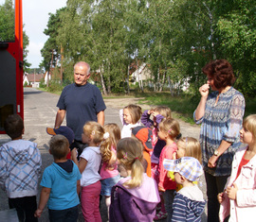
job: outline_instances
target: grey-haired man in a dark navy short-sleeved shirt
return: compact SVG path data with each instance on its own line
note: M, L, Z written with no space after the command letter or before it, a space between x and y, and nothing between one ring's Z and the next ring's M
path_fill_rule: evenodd
M104 110L106 109L101 91L87 82L90 77L90 66L79 61L74 66L74 83L64 87L59 98L55 128L59 128L66 115L66 126L75 133L75 141L70 148L77 147L82 153L82 127L87 121L96 121L104 125ZM85 145L86 146L86 145Z

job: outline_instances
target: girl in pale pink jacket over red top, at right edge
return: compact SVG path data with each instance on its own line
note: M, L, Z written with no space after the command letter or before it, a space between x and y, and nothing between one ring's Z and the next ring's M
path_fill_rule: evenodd
M228 216L229 221L255 221L256 114L248 115L244 120L240 141L247 145L235 153L225 190L218 195L220 221Z

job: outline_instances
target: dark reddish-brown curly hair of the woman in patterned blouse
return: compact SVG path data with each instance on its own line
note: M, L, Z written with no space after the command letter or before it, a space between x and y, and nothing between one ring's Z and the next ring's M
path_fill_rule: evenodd
M228 60L212 60L202 68L202 72L213 78L217 89L231 86L235 81L233 68Z

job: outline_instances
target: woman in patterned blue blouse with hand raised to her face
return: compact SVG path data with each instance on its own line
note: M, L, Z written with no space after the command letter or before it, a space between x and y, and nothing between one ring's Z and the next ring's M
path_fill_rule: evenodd
M219 221L218 192L223 192L231 173L234 152L240 145L239 130L245 98L235 90L232 66L227 60L210 61L203 69L207 84L199 88L201 100L193 113L201 125L200 144L208 196L208 221ZM209 94L209 91L213 91Z

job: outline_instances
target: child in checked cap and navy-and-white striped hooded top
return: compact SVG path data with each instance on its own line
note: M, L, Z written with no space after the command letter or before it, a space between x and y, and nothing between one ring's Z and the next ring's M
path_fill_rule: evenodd
M203 168L195 158L183 157L177 160L164 160L163 166L168 171L174 171L176 183L183 188L174 196L172 222L201 221L206 201L202 191L193 184L203 174Z

